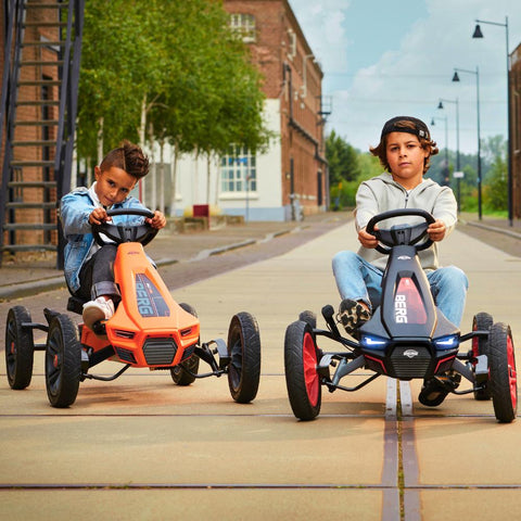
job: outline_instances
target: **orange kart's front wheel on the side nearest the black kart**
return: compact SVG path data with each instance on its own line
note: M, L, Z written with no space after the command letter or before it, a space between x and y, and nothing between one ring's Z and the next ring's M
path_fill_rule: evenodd
M228 329L228 386L231 397L247 404L255 399L260 380L260 335L255 318L241 312Z

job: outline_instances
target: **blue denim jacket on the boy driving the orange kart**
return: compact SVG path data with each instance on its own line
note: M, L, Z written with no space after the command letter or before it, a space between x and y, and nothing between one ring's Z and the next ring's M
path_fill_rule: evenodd
M89 224L89 215L94 208L96 204L89 195L88 188L85 187L67 193L60 202L60 219L65 240L67 241L64 250L65 280L73 293L79 289L79 270L94 242L91 225ZM129 195L122 203L112 206L112 209L116 208L143 209L144 206L136 198ZM136 215L117 215L113 217L115 225L125 223L139 225L143 220L143 217Z

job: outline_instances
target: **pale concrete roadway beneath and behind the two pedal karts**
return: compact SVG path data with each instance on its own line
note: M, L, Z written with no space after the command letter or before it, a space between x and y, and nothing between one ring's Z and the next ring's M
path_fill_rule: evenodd
M325 392L316 421L293 417L285 328L303 309L336 306L330 260L355 247L347 224L174 292L198 310L203 341L226 338L237 312L257 318L263 369L250 405L231 401L224 378L178 387L168 373L129 370L115 382L81 383L74 406L56 410L47 402L41 353L31 385L21 392L9 389L2 359L0 517L521 517L521 422L498 424L490 402L449 396L429 409L417 402L421 382L382 377L356 393ZM458 231L442 245L442 258L470 279L463 332L486 310L511 325L517 342L521 258ZM105 363L100 370L118 367Z

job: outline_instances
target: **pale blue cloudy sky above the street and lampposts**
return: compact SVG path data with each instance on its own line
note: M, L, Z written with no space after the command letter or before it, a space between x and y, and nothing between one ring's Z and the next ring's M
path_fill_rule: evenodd
M478 151L480 135L507 138L507 46L521 45L519 0L289 0L323 72L326 131L378 144L383 124L410 115L440 149ZM482 39L472 38L475 21ZM455 68L460 81L452 81ZM437 109L440 100L444 109ZM434 125L432 125L434 120Z

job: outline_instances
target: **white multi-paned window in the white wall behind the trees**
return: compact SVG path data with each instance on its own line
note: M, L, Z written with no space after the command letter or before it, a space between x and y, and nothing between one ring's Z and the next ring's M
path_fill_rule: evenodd
M220 182L223 192L256 192L255 155L252 155L247 149L231 145L228 154L220 158Z

